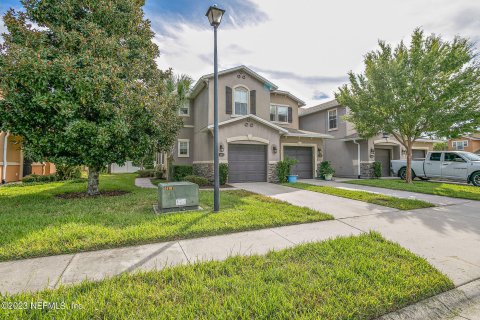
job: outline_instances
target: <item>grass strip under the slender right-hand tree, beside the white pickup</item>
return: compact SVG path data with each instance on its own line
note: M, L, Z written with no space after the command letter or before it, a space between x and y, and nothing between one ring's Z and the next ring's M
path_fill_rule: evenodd
M345 181L345 183L480 201L480 188L468 185L434 181L414 181L411 184L407 184L403 180L390 179L350 180Z

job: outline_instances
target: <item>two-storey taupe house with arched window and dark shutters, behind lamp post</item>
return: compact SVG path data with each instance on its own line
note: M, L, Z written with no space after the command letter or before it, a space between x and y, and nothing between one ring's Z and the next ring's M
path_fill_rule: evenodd
M229 182L275 181L285 157L297 159L294 174L317 176L328 133L299 130L305 103L251 69L219 72L219 156ZM184 127L173 151L174 165L192 165L194 174L213 180L213 74L201 77L180 109Z

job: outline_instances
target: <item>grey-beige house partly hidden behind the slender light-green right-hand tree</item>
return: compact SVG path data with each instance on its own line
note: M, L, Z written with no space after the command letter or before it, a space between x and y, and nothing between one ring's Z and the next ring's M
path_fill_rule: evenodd
M382 164L382 176L390 176L390 160L406 159L406 149L390 136L379 135L370 139L359 136L352 123L343 117L348 108L336 100L311 108L300 109L300 128L332 135L325 140L324 159L330 161L340 177L371 177L373 162ZM414 158L425 158L439 140L418 139L413 146Z

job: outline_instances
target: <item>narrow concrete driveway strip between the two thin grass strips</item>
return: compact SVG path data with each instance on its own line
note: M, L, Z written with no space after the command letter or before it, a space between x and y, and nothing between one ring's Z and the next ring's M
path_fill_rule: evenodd
M344 181L344 180L340 180L340 181ZM340 181L339 182L324 181L324 180L317 180L317 179L300 179L299 180L299 182L309 183L317 186L329 186L329 187L335 187L335 188L346 189L346 190L368 191L372 193L379 193L379 194L384 194L387 196L392 196L397 198L423 200L423 201L430 202L436 206L449 206L453 204L461 204L461 203L467 203L471 201L468 199L450 198L450 197L443 197L443 196L437 196L437 195L425 194L425 193L416 193L416 192L392 190L392 189L386 189L386 188L362 186L362 185L344 183Z

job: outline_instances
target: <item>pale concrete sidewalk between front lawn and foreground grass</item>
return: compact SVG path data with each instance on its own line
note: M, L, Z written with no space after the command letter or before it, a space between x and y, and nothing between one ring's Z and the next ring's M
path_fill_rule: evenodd
M57 288L82 280L101 280L123 272L160 270L167 266L231 255L265 254L302 242L322 241L361 231L340 221L323 221L221 236L154 243L0 263L0 292Z

